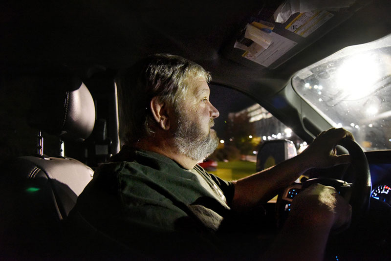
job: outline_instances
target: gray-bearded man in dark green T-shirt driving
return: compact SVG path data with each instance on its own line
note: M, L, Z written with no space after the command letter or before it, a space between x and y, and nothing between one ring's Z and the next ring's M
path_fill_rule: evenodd
M123 147L96 170L70 220L92 228L86 240L95 244L95 253L105 253L98 241L118 245L108 257L323 260L329 233L351 218L350 205L332 187L317 184L296 196L282 230L267 246L235 241L230 220L267 202L311 168L348 163L348 155L337 156L335 146L353 138L351 133L324 131L296 157L224 181L197 165L218 144L212 127L219 112L209 101L210 80L200 65L166 54L120 73Z

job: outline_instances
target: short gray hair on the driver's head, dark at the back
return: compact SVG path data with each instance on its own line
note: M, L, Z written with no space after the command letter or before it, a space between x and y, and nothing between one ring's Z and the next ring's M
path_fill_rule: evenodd
M175 108L191 86L191 80L211 76L200 65L180 56L155 54L122 71L116 78L119 105L119 136L122 144L134 145L156 128L149 109L153 97Z

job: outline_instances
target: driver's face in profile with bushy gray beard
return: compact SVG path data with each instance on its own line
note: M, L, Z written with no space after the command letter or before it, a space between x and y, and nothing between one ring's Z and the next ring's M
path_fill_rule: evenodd
M177 128L174 131L176 147L179 152L202 162L215 151L218 144L216 131L211 129L218 110L210 103L210 89L202 78L193 80L192 88L176 108Z

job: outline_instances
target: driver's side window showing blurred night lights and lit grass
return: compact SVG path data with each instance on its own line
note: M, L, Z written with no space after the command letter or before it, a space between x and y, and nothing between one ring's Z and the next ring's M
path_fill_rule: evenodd
M287 139L299 152L306 145L248 96L227 87L210 85L210 88L210 101L220 112L214 127L220 143L201 164L207 171L225 180L236 180L256 172L257 154L266 141Z

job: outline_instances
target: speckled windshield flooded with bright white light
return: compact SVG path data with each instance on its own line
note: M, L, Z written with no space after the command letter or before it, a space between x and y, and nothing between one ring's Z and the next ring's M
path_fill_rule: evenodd
M346 47L299 71L292 86L367 151L391 149L391 35Z

